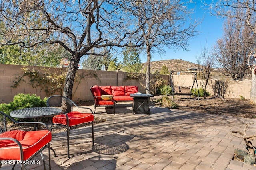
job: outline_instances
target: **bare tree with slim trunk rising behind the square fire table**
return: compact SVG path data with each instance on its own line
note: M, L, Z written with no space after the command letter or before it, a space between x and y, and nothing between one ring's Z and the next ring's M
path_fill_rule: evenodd
M196 35L198 22L190 22L192 10L182 0L140 0L129 5L132 5L130 9L136 8L135 13L132 12L134 22L142 28L138 36L142 35L145 42L146 93L150 93L151 54L164 53L164 47L188 50L188 40Z

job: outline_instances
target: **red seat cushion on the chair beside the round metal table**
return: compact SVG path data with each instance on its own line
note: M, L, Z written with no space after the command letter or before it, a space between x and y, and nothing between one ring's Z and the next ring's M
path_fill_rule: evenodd
M66 115L60 114L52 118L52 122L55 124L67 125ZM80 125L82 123L92 122L94 116L92 113L81 113L78 111L72 111L68 113L69 126Z

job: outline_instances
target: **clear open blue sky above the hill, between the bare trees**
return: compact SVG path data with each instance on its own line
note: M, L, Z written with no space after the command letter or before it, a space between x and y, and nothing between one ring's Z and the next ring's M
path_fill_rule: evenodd
M199 2L199 0L196 1ZM175 49L174 51L174 49L168 49L166 47L165 54L161 56L158 53L152 54L151 61L182 59L197 63L196 56L200 56L201 48L206 46L210 50L216 44L217 39L222 38L223 18L212 16L208 10L200 8L200 4L197 4L193 17L203 20L197 27L199 35L190 40L190 51L184 51L182 49ZM140 59L142 63L146 63L147 61L144 55L140 55Z

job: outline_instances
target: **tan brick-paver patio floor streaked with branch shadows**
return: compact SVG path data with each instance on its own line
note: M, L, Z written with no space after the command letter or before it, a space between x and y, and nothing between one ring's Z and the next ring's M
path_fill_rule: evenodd
M107 121L94 125L94 147L90 126L74 129L70 158L66 156L66 132L52 134L51 147L57 154L51 156L52 170L256 170L232 160L234 149L246 148L242 139L230 134L231 130L243 131L245 124L256 123L255 119L158 106L150 106L150 115L133 115L130 104L119 104L116 115L99 108L95 117ZM254 134L255 129L256 125L250 125L247 132ZM48 160L47 149L43 153ZM35 159L41 161L40 155ZM42 167L42 163L25 166ZM11 168L2 165L1 170Z

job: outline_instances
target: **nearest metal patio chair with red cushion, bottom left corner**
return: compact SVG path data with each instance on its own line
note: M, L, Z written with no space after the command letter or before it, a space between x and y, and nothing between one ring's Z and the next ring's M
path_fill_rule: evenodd
M9 120L8 120L9 119ZM39 131L23 131L10 130L8 131L8 122L17 123L21 125L44 125L46 130ZM42 126L43 127L43 126ZM0 111L0 168L2 162L13 164L12 169L18 163L21 169L24 170L24 161L31 160L38 153L41 154L44 163L44 170L46 169L44 156L42 150L48 147L49 153L49 169L51 169L51 154L50 141L52 140L52 133L48 126L42 122L19 122L15 121L9 115Z

